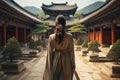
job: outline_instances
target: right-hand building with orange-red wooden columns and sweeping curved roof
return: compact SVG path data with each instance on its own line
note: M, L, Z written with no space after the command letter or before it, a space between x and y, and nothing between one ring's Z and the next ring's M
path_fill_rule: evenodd
M109 0L105 6L79 22L89 29L89 42L97 40L101 45L112 45L120 38L120 1Z

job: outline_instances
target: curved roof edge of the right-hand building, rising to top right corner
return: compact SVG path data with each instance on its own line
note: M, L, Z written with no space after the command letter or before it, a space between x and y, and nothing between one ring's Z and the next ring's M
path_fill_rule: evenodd
M84 17L83 19L79 20L80 23L87 23L89 21L96 20L98 17L109 13L111 9L114 9L115 6L120 5L119 0L110 0L105 6L98 9L96 12Z

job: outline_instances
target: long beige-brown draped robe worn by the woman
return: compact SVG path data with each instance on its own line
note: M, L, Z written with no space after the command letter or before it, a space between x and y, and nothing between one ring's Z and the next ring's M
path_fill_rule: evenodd
M43 80L72 80L75 68L73 37L65 33L58 44L55 34L49 36L48 51Z

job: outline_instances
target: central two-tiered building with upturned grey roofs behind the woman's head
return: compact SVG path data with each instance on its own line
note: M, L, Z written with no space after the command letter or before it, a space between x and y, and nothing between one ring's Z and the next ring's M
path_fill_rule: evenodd
M46 19L45 21L49 22L50 27L55 26L55 18L60 14L65 16L67 28L71 27L74 23L77 22L73 19L73 15L75 14L78 8L76 4L69 5L67 2L66 3L52 2L50 5L43 4L41 8L45 15L49 15L49 18ZM48 31L46 35L48 36L51 33L53 33L53 30Z

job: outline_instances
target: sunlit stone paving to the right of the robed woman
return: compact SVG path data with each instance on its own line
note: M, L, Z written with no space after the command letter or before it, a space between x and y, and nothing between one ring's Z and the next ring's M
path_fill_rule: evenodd
M111 71L106 68L111 63L89 62L88 56L81 56L80 51L75 51L76 70L80 80L120 80L120 78L111 78Z

